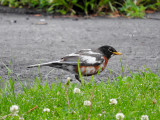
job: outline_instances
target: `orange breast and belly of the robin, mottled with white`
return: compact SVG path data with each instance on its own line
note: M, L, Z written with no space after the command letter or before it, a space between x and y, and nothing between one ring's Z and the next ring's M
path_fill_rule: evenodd
M102 72L105 69L105 67L107 66L107 63L108 63L108 59L106 57L104 57L104 61L100 65L80 66L81 74L85 75L85 76L91 76L91 75L97 74L99 69L101 69L100 72ZM78 66L76 68L76 72L78 73Z

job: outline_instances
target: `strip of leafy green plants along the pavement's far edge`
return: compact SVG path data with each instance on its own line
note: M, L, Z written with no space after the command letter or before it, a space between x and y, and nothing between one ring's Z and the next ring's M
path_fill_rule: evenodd
M160 0L0 0L0 5L49 14L93 16L111 14L138 18L144 18L146 10L160 11Z

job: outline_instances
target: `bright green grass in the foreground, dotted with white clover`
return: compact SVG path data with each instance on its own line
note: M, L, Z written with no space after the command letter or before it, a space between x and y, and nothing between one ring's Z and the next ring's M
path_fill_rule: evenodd
M0 89L0 119L18 120L22 116L25 120L116 120L119 112L125 115L124 120L140 120L142 115L148 115L150 120L160 118L160 76L149 69L145 72L131 73L130 76L118 76L111 82L96 84L94 78L81 84L48 82L41 85L38 78L29 89L19 80L23 89L15 93L15 81L10 72L7 82L0 80L4 87ZM81 93L74 94L74 88ZM68 99L67 99L68 95ZM92 97L92 100L91 100ZM110 105L110 99L116 99L116 105ZM91 106L84 106L84 101L91 100ZM10 107L19 106L19 116L11 116ZM37 106L37 107L35 107ZM35 107L35 108L34 108ZM33 109L32 109L33 108ZM50 112L43 112L49 108ZM28 112L27 112L28 111ZM100 116L99 114L102 114ZM8 116L5 116L8 115Z

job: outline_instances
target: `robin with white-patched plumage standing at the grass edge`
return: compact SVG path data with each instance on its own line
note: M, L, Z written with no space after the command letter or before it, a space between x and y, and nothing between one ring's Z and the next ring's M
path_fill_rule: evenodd
M115 48L109 45L101 46L97 49L82 49L78 52L68 54L60 60L42 64L30 65L28 68L49 66L69 71L81 82L78 71L78 64L83 76L92 76L99 71L102 72L113 55L122 55Z

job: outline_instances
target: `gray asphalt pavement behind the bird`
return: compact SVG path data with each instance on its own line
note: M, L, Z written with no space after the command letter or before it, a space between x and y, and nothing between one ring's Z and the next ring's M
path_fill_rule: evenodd
M12 70L15 79L18 75L21 81L32 82L38 69L27 69L28 65L58 60L80 49L101 45L111 45L123 53L112 57L107 66L117 74L121 74L120 58L127 75L127 66L132 72L143 69L144 65L158 72L160 13L152 14L150 19L54 19L0 13L0 76L4 80L7 80L8 71L3 63ZM42 81L52 69L40 69ZM112 72L112 75L116 74ZM108 76L109 70L105 69L95 79L106 81ZM67 77L75 80L72 74L59 69L53 69L48 75L50 83L56 78L65 81Z

